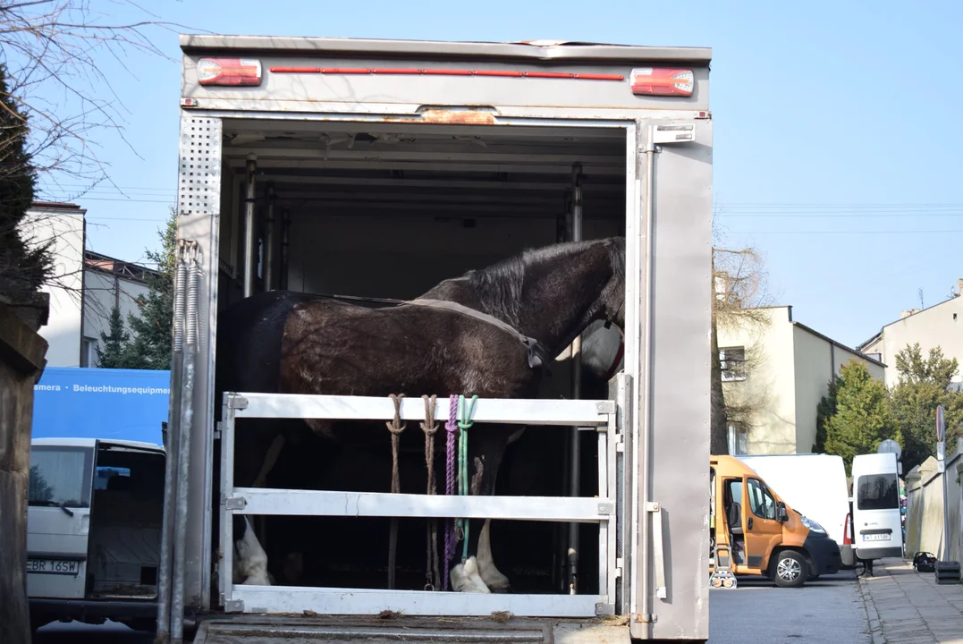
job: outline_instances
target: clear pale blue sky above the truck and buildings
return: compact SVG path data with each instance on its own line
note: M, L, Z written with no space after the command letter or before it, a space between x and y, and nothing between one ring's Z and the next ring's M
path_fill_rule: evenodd
M150 9L184 31L224 34L710 46L716 225L725 245L764 254L773 303L855 345L918 307L921 289L930 306L963 277L963 3L155 0ZM157 245L176 185L180 52L175 34L156 42L178 63L103 64L143 158L106 134L99 154L132 199L108 188L78 199L88 246L128 260Z

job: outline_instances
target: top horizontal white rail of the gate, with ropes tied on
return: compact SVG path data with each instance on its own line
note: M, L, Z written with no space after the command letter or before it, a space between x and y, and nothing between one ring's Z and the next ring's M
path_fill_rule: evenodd
M395 405L387 398L369 396L307 396L301 394L224 394L234 417L297 418L331 421L390 421ZM435 405L434 417L448 420L446 399ZM403 421L424 421L420 398L402 400ZM504 425L608 425L615 413L612 400L479 399L472 420Z

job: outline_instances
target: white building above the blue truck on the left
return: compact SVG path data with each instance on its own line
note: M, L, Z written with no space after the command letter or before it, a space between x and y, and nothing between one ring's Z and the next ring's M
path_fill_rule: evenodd
M38 201L23 223L33 243L54 242L54 280L41 289L50 294L50 313L39 330L50 345L49 367L96 367L100 333L107 331L114 306L126 324L149 291L147 275L156 274L86 250L86 213L76 204Z

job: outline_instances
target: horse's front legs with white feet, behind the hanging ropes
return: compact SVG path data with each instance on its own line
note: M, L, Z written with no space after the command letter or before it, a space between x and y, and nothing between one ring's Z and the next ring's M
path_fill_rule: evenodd
M508 438L517 431L517 427L487 425L469 430L471 438L468 441L468 459L471 482L469 494L492 495L495 491L495 479L502 456L508 447ZM468 521L468 553L462 560L461 553L455 552L455 564L452 567L452 587L457 592L490 593L488 581L496 584L498 590L508 588L508 578L498 572L491 556L490 540L488 536L488 519L470 519ZM455 563L456 562L456 563ZM485 570L485 580L481 576L482 564Z

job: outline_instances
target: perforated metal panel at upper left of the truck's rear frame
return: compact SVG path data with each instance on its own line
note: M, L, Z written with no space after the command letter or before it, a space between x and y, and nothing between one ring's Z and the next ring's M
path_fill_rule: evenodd
M180 216L217 214L221 207L221 119L181 113Z

